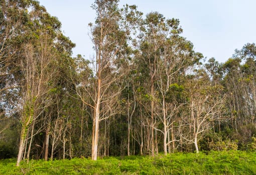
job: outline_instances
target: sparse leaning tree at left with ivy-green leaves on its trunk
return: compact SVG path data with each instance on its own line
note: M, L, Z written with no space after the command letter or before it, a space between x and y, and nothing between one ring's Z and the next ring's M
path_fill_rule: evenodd
M26 44L24 47L24 50L26 50L24 53L25 60L21 62L24 81L20 101L22 128L17 166L19 166L22 159L25 141L31 124L36 122L45 108L51 104L46 96L52 88L49 83L53 80L53 75L56 73L54 71L54 64L52 64L55 55L47 35L42 36L42 39L36 45ZM32 127L34 127L34 124Z

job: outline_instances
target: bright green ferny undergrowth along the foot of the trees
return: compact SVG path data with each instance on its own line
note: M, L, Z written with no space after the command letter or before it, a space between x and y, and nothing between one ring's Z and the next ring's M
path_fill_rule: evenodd
M92 161L0 160L0 174L256 174L256 152L211 151L158 156L105 157Z

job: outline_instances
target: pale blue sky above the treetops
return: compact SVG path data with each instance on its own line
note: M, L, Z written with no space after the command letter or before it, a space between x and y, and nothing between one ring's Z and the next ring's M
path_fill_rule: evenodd
M90 7L94 0L39 0L47 11L58 17L62 30L76 47L73 56L94 56L89 22L96 13ZM147 14L162 13L166 18L178 18L182 36L192 41L194 50L207 58L225 62L234 50L256 42L256 0L120 0L119 4L136 4Z

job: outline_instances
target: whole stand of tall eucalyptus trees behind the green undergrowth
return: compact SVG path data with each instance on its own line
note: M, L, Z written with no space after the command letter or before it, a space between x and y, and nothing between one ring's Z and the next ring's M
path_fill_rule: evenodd
M95 0L74 57L38 1L0 4L0 159L256 150L255 43L206 59L179 19Z

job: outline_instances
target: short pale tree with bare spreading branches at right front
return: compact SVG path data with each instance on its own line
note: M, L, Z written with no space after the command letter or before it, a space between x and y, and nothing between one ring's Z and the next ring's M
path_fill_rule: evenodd
M180 136L188 143L194 143L199 152L198 141L213 127L215 120L223 120L225 114L223 86L211 85L204 69L189 75L185 85L187 110L182 112Z

